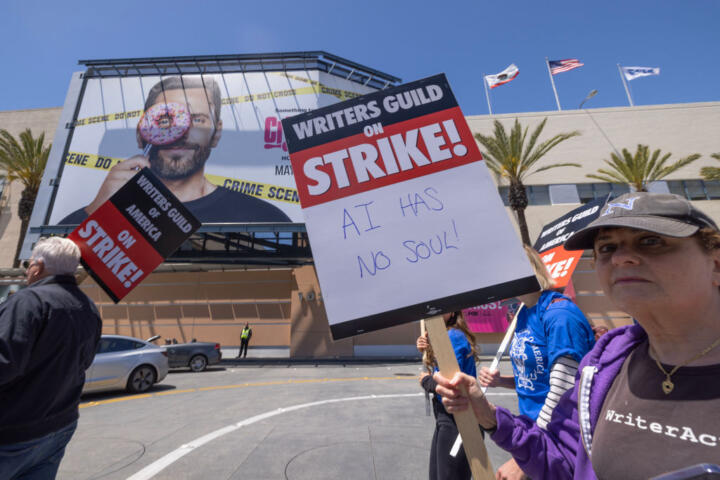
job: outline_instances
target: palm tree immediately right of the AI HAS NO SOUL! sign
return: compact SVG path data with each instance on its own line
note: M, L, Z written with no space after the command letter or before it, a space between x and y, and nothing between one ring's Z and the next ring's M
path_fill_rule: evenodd
M500 179L510 184L508 192L508 203L510 208L517 215L520 236L523 243L530 245L530 234L528 233L527 221L525 220L525 209L528 205L527 192L523 181L528 176L557 167L579 167L577 163L554 163L530 171L533 166L552 148L564 142L568 138L580 135L577 130L569 133L559 133L554 137L545 140L537 145L538 137L545 128L547 118L540 122L540 125L530 135L527 143L528 127L523 129L518 119L510 130L508 137L505 127L498 120L495 120L495 131L492 136L485 136L476 133L475 138L485 148L482 152L488 168Z

